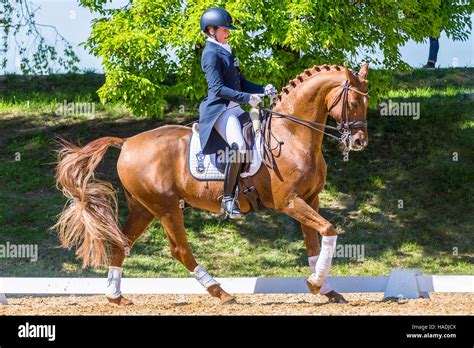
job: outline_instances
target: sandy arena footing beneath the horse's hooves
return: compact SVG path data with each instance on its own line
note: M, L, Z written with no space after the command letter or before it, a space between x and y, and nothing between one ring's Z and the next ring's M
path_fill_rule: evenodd
M432 293L430 299L384 301L382 293L345 294L348 304L311 294L237 295L221 305L209 295L130 295L132 306L104 296L10 296L0 315L474 315L474 294Z

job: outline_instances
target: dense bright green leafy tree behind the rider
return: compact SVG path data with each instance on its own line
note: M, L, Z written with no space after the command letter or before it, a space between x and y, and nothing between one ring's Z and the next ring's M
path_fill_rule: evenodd
M232 14L239 30L229 42L246 78L278 87L315 64L406 68L400 46L441 28L465 40L473 9L470 1L446 0L134 0L121 9L107 9L107 0L81 4L101 15L87 41L106 72L101 100L123 101L148 115L162 114L169 95L195 101L206 95L199 20L209 7ZM381 62L368 57L377 49Z

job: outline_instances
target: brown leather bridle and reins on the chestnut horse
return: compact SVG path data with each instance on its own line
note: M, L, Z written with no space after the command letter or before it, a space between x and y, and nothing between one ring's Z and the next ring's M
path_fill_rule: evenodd
M341 143L344 146L344 152L348 153L351 150L351 148L350 148L350 143L352 141L352 139L351 139L352 138L351 129L367 128L367 120L359 120L359 121L350 121L349 120L349 115L348 115L349 90L354 91L354 92L356 92L356 93L358 93L362 96L367 96L368 95L367 92L361 92L358 89L352 87L350 85L349 80L346 80L344 85L342 86L341 92L339 93L337 98L334 99L334 102L332 103L332 105L329 107L329 109L327 111L327 114L329 116L331 110L342 100L343 108L342 108L342 113L341 113L341 120L339 122L336 122L336 127L326 125L326 124L320 123L320 122L308 121L308 120L305 120L305 119L302 119L302 118L299 118L299 117L296 117L296 116L293 116L293 115L276 112L276 111L273 111L272 109L269 109L269 108L259 107L259 109L261 111L263 111L264 113L267 114L267 116L263 118L264 119L264 125L263 125L264 142L263 142L263 145L264 145L264 149L265 149L265 152L267 154L267 157L270 160L270 164L269 164L270 167L273 168L272 151L275 150L277 147L280 147L281 145L283 145L283 142L279 141L275 137L273 132L271 131L271 120L272 120L273 116L277 116L277 117L280 117L280 118L285 118L285 119L287 119L289 121L292 121L294 123L301 124L301 125L306 126L310 129L313 129L315 131L323 133L324 135L327 135L328 137L333 138L336 141L338 141L339 143ZM271 104L272 104L272 101L270 102L270 105ZM321 130L321 127L323 128L323 130ZM325 129L336 130L341 135L338 137L334 134L331 134L331 133L325 131ZM270 146L270 142L271 142L270 138L271 137L273 137L277 141L277 146L273 149Z

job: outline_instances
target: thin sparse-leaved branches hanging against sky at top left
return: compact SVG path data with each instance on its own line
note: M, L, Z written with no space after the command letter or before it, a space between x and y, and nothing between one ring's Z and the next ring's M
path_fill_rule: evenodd
M15 49L18 65L24 74L47 74L54 68L77 71L79 58L71 44L52 25L36 21L39 7L29 0L0 0L0 66L8 63L7 52ZM49 42L46 31L52 31L54 42ZM11 47L13 43L14 47Z

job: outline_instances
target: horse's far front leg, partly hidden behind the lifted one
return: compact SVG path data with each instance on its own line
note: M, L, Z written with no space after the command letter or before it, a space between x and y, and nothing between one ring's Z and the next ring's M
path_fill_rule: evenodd
M308 204L316 212L319 210L319 197L315 195ZM306 253L308 254L308 263L312 273L316 273L316 263L319 259L320 247L319 247L319 236L318 231L307 225L301 224L301 231L303 232L304 242L306 246ZM310 287L310 290L312 288ZM347 300L338 292L334 291L326 280L319 290L319 294L326 296L329 302L334 303L347 303Z

